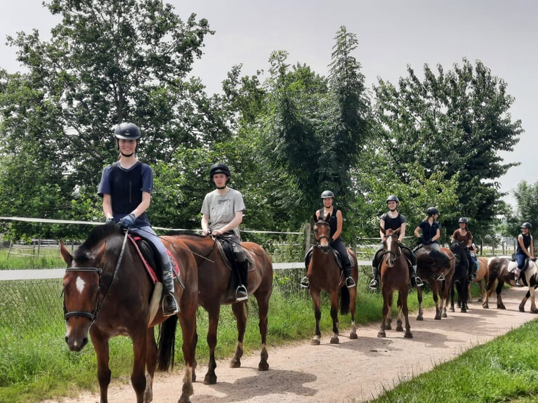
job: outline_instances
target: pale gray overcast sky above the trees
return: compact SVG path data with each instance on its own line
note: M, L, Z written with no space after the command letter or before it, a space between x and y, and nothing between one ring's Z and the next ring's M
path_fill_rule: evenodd
M345 25L357 35L355 57L367 85L377 77L397 83L411 65L421 72L427 63L452 69L462 58L481 60L492 74L504 79L515 103L513 120L520 119L525 133L514 152L503 152L506 162L521 162L500 178L502 192L511 192L521 180L538 182L534 139L538 114L534 97L538 84L538 2L532 0L170 0L186 20L190 13L209 20L216 34L206 38L204 56L194 74L208 93L220 91L221 81L233 65L243 74L268 70L272 51L289 53L290 64L309 65L326 75L336 31ZM43 39L60 20L41 6L41 0L4 2L0 14L0 67L20 70L15 49L5 45L6 35L39 29ZM515 206L511 194L505 200Z

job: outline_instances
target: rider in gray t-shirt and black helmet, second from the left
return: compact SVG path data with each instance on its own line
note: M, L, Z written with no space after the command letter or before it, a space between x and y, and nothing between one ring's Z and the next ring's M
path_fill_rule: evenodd
M206 194L202 203L202 234L228 239L239 271L240 285L235 290L235 300L246 300L249 261L241 246L239 229L245 210L243 195L228 187L230 169L225 164L220 162L213 164L209 171L209 179L215 184L216 189Z

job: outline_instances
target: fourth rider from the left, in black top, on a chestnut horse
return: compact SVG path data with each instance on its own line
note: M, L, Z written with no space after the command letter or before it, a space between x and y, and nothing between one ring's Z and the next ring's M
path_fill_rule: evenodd
M400 200L398 197L391 194L386 199L386 203L388 206L388 212L384 213L380 220L379 220L379 236L381 237L381 246L377 249L376 253L374 253L374 259L372 260L372 275L374 278L369 284L370 289L377 289L377 270L379 266L379 252L383 250L383 230L398 230L400 228L400 234L398 235L398 242L400 242L400 247L402 248L402 251L405 253L407 258L411 260L412 264L412 270L410 270L411 275L411 284L414 284L416 287L423 286L423 282L416 275L416 256L411 251L411 249L407 248L407 246L403 246L402 241L405 238L405 227L407 226L407 220L405 216L400 214L400 211L398 210L398 204L400 203Z

